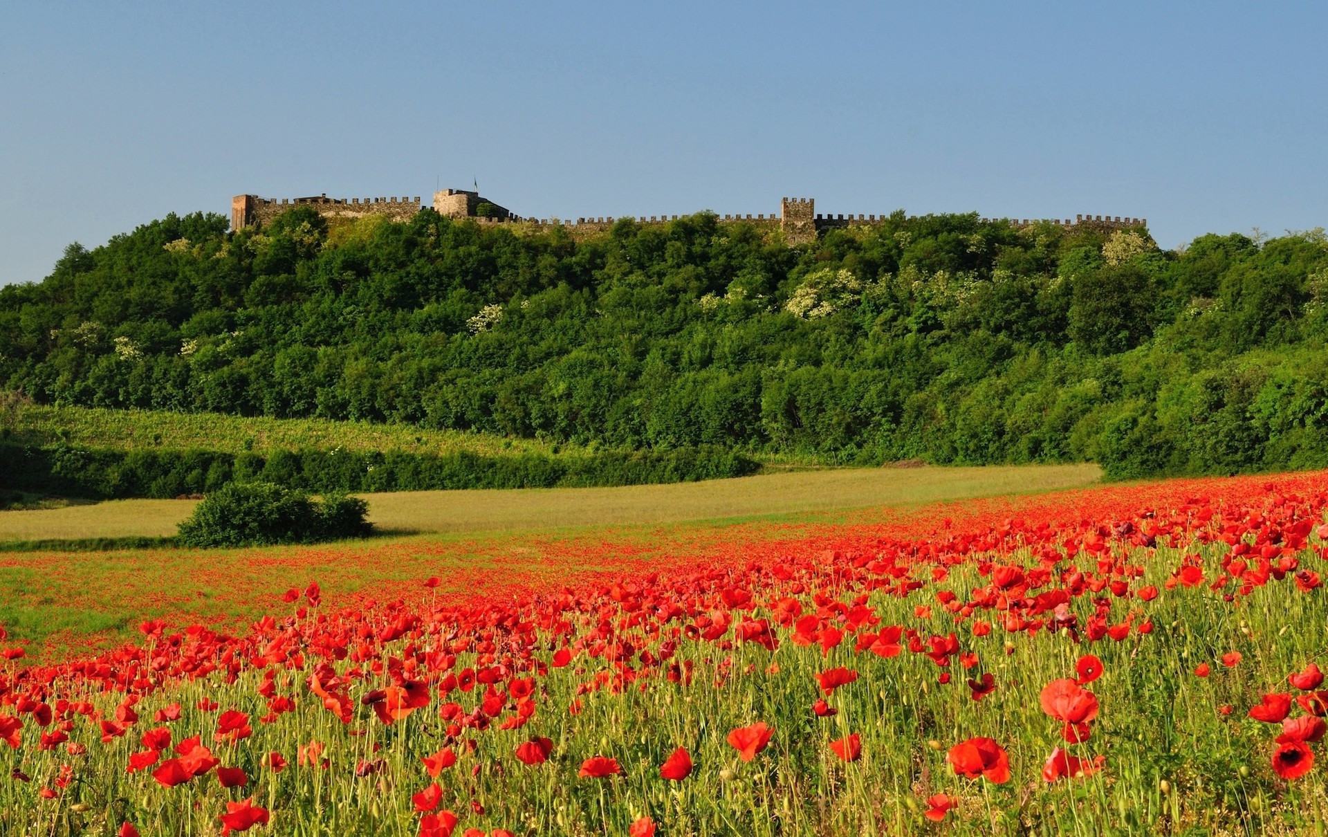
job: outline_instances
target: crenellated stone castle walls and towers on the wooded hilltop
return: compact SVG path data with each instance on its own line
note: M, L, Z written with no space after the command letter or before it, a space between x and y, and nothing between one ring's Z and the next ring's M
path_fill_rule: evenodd
M365 218L368 215L382 215L392 221L406 221L420 211L420 198L328 198L325 194L316 198L260 198L258 195L235 195L231 199L231 229L243 230L251 226L266 226L282 213L307 206L328 219L335 218ZM575 222L550 221L547 218L522 218L498 206L487 198L479 197L478 191L463 189L444 189L433 193L433 209L440 215L449 218L474 218L485 223L523 222L534 226L562 225L572 232L592 234L606 231L619 219L616 218L578 218ZM884 223L888 215L819 215L815 211L813 198L784 198L780 203L780 215L758 214L753 218L748 215L724 215L724 221L744 221L762 227L778 227L784 232L784 240L789 244L805 244L814 242L822 231L843 227L862 227ZM641 215L640 223L667 223L677 221L677 215ZM983 218L983 221L988 221ZM1076 215L1060 219L1029 221L1007 219L1017 227L1027 227L1036 223L1052 223L1068 229L1089 229L1102 232L1126 230L1133 227L1147 227L1146 218L1121 218L1120 215Z

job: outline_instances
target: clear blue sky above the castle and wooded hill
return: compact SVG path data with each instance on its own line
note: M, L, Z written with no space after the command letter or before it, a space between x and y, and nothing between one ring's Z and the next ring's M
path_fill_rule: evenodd
M1328 226L1320 3L0 0L0 283L234 194Z

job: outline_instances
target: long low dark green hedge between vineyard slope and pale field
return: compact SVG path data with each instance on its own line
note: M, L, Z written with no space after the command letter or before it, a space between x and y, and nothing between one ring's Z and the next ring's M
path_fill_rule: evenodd
M207 494L230 482L255 481L315 493L644 485L741 477L758 469L754 460L717 446L490 457L315 449L234 456L0 444L0 489L93 498Z

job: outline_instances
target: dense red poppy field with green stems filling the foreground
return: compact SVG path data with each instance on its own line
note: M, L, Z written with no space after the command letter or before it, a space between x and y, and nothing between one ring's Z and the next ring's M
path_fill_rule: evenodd
M1325 514L1170 481L0 639L0 833L1323 833Z

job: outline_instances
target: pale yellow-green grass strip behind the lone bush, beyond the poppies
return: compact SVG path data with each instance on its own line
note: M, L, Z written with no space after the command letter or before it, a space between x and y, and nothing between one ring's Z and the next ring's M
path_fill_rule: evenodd
M825 513L1081 488L1097 465L874 468L760 474L738 480L590 489L367 494L369 519L388 531L442 533L663 523ZM0 542L167 537L193 500L117 500L62 509L0 512Z

